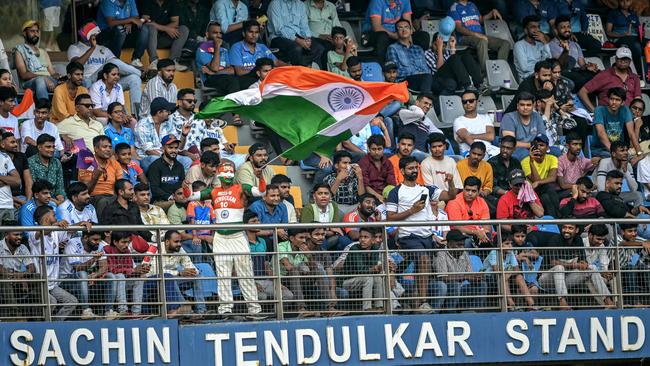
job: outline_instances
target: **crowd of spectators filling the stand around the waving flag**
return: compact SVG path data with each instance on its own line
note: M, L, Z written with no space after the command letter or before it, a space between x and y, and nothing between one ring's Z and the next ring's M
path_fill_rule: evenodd
M569 309L570 291L582 287L594 306L615 307L615 269L630 270L619 289L625 306L648 305L639 294L650 291L650 272L635 272L650 269L646 225L502 225L497 235L489 225L445 224L650 217L650 99L636 72L650 60L642 58L634 2L608 11L597 1L513 3L370 0L358 44L339 20L350 13L343 3L101 0L67 48L66 75L39 47L42 22L25 21L24 43L0 65L0 220L67 231L3 234L0 302L20 306L1 307L0 316L34 316L30 304L46 300L29 280L41 274L57 320L146 316L161 276L170 316L187 313L191 298L194 314L231 318L233 292L249 319L265 318L264 301L279 296L298 317L341 315L355 296L364 312L483 309L496 288L489 272L500 269L509 271L511 309L539 309L541 292L553 294L550 306ZM588 31L588 8L604 11L605 39ZM441 18L433 34L424 26L432 14ZM512 44L485 28L504 19ZM159 58L164 48L169 56ZM609 63L610 55L608 68L593 62ZM515 79L491 83L486 65L494 59L512 65ZM331 154L301 162L280 156L287 143L263 121L195 118L202 96L259 88L286 65L407 81L411 98L386 105ZM196 87L179 89L176 74L189 72ZM514 98L481 109L484 98L501 94ZM453 120L440 102L449 95L460 97ZM243 125L264 138L247 147L229 142L225 131ZM295 190L280 167L313 181ZM431 226L345 228L375 221ZM295 222L341 228L282 227ZM92 229L223 223L276 224L277 245L265 230ZM388 261L379 252L385 245ZM199 279L215 275L213 307ZM309 299L323 301L315 307Z

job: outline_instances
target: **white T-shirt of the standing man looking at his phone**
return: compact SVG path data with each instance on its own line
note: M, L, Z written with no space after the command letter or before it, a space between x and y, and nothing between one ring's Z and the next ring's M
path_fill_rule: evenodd
M426 194L427 200L424 204L424 209L407 217L404 221L433 221L436 216L433 215L433 210L429 201L437 201L440 198L440 193L442 193L442 190L436 186L423 187L416 184L413 187L409 187L400 184L388 194L388 198L386 199L386 211L395 213L408 211L417 201L420 200L420 197L422 197L423 194ZM426 238L431 236L431 233L432 228L430 226L409 226L399 228L400 238L409 235L417 235Z

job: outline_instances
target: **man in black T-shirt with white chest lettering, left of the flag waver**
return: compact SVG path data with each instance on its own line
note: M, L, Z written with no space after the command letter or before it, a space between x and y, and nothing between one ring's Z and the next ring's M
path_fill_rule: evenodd
M176 159L180 141L170 134L162 138L161 144L163 155L151 164L147 179L154 204L167 210L174 203L174 192L185 180L185 169Z

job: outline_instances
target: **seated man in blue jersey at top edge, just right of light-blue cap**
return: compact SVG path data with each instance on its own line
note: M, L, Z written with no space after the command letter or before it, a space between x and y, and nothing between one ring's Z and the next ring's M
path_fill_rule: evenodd
M478 63L481 65L483 73L486 73L485 61L488 59L488 50L496 51L497 58L500 60L508 59L510 43L485 35L483 26L481 26L485 20L502 19L498 10L492 9L486 15L481 15L473 2L458 0L449 9L449 16L456 21L456 32L460 36L460 44L476 50Z

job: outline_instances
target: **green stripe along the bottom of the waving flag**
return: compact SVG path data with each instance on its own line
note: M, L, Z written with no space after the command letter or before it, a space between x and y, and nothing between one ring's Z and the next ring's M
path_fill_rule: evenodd
M223 113L238 113L264 123L293 145L282 154L291 160L304 159L312 152L329 156L339 142L352 136L349 131L337 136L318 135L336 120L318 105L299 96L278 95L251 106L238 105L223 97L215 98L196 118L213 118Z

